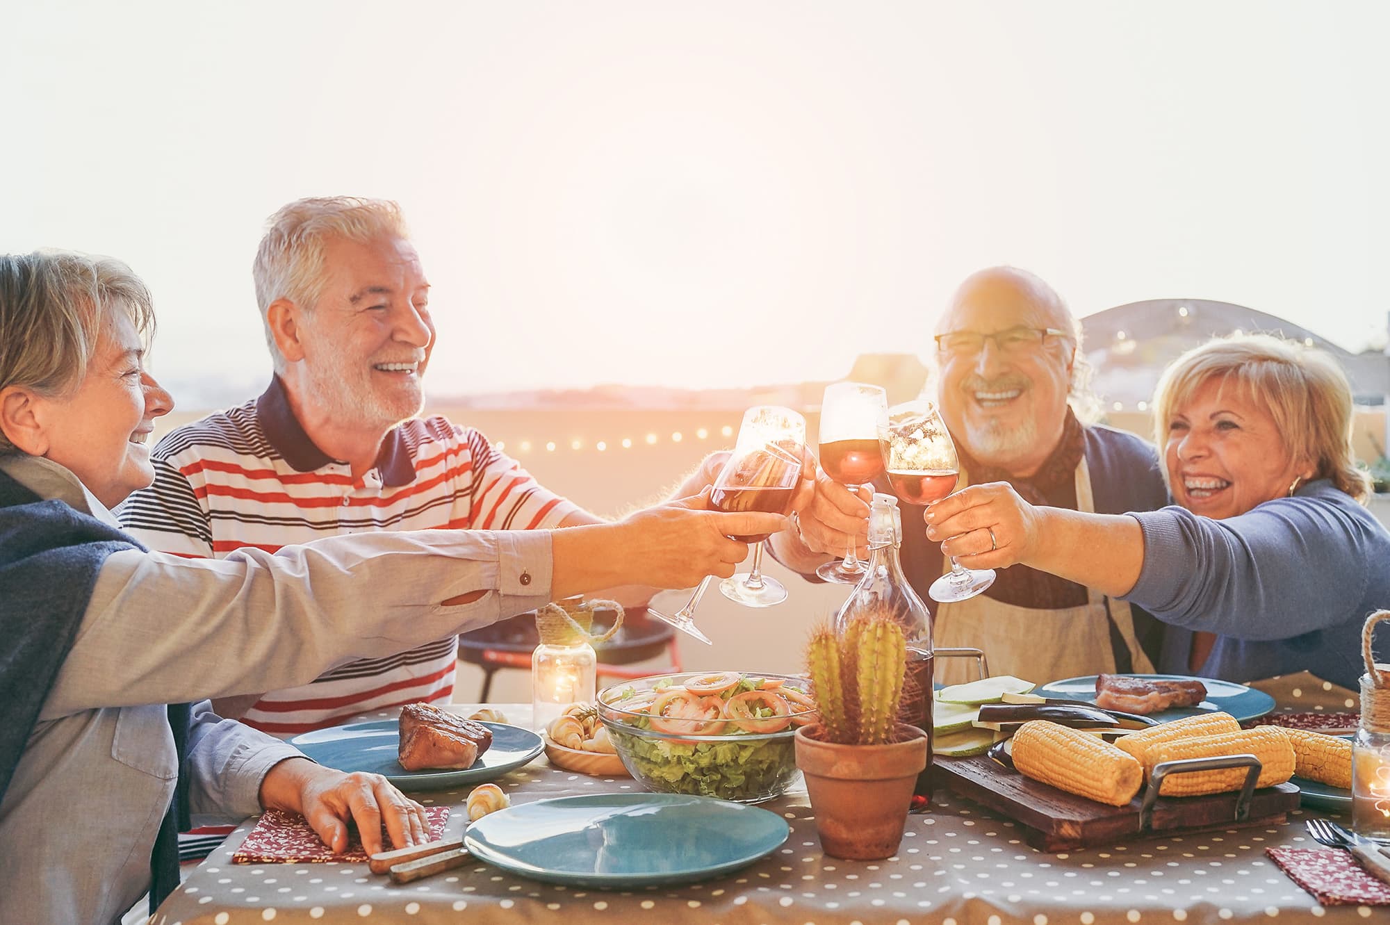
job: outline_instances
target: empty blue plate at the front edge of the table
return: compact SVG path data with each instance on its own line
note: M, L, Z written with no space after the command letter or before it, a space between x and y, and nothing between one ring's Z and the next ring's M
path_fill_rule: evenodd
M596 889L689 883L776 851L791 829L767 810L678 793L537 800L468 826L467 849L520 876Z

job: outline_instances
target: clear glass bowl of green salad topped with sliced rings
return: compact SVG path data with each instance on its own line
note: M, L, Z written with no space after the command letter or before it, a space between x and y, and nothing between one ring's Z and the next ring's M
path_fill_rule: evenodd
M803 678L719 672L609 688L599 712L632 776L653 790L755 803L796 775L792 732L819 721Z

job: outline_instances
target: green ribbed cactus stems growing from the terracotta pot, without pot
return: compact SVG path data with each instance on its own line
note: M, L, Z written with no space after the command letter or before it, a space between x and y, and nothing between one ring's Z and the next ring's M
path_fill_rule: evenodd
M841 744L897 742L908 642L887 607L844 626L817 628L806 644L806 668L820 710L821 733Z

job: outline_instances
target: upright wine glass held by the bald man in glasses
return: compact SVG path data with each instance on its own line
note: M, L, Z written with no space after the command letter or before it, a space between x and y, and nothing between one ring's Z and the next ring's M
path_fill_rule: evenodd
M888 418L888 393L862 382L835 382L826 386L820 400L820 468L851 493L873 482L883 472L878 433ZM845 557L826 562L816 574L827 582L858 585L869 567L855 554L849 539Z

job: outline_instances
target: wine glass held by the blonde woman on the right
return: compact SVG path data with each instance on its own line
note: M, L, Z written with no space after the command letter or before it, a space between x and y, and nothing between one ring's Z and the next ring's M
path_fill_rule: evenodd
M908 504L940 501L955 490L960 475L955 443L937 406L926 399L888 410L883 456L894 494ZM992 568L963 568L951 557L951 574L931 582L933 600L966 600L994 583Z

